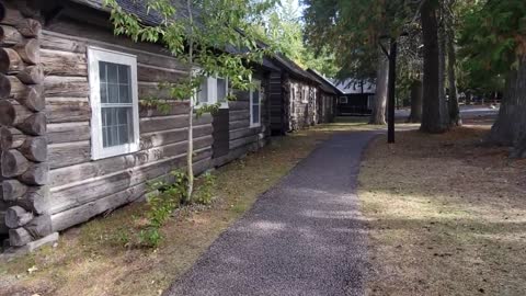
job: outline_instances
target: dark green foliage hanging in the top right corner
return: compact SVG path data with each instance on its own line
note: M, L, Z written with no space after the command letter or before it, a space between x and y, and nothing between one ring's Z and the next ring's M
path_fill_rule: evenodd
M460 45L468 84L502 89L526 56L526 1L465 3Z

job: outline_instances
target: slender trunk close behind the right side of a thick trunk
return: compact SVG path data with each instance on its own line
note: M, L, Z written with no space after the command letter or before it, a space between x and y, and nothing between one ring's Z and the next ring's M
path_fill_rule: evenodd
M457 56L455 53L455 32L449 24L447 34L447 78L449 84L449 125L460 126L462 119L460 118L460 109L458 107L458 94L457 94L457 78L455 73L455 66L457 64Z

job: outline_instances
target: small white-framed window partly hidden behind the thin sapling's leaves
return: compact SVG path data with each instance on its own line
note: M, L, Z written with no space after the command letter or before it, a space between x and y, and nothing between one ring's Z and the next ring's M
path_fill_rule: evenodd
M220 107L228 107L228 78L207 77L201 82L196 94L196 107L221 103Z

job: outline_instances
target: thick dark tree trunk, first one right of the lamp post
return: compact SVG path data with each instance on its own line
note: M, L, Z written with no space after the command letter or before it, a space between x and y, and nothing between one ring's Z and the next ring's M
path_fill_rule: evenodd
M441 117L441 100L438 96L438 24L435 3L425 1L421 8L421 15L424 43L424 76L422 125L420 129L425 133L444 133L446 128Z

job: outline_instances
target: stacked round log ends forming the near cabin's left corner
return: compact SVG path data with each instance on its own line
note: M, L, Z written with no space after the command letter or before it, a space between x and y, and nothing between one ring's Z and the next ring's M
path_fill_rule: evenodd
M11 247L52 234L42 25L20 5L0 3L0 235Z

